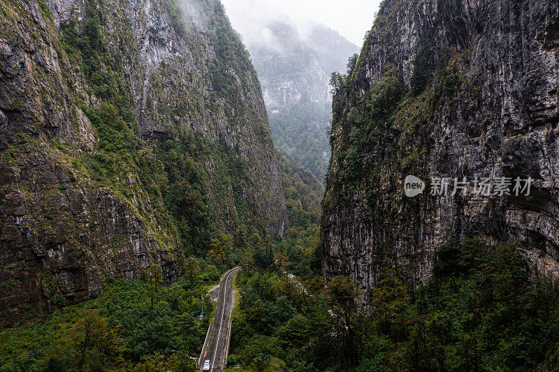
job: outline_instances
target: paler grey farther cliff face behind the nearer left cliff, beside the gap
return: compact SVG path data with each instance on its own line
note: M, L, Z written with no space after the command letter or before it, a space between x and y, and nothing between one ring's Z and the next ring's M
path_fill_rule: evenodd
M49 4L55 24L87 15L87 1ZM284 224L266 106L245 46L215 0L157 0L99 3L96 11L108 29L108 49L122 56L126 83L140 135L147 140L180 137L189 129L233 151L233 161L250 169L242 180L242 202L266 216L273 234ZM208 159L210 175L217 163ZM218 183L219 179L214 180ZM212 198L219 225L234 228L238 213L233 187L227 199ZM210 195L212 191L209 191Z

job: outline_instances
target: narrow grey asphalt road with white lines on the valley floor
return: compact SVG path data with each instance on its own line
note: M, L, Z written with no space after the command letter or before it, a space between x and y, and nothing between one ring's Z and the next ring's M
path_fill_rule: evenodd
M215 308L214 323L210 335L208 336L208 345L206 347L204 357L201 360L201 366L205 360L210 360L210 371L223 371L225 363L225 353L227 350L227 336L229 327L231 327L231 311L233 310L233 278L240 270L235 267L227 271L222 276L219 283L219 295L217 296L217 306Z

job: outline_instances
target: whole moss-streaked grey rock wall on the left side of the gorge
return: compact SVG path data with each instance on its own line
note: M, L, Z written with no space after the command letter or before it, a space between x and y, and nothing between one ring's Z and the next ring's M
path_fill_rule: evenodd
M177 278L177 229L138 168L154 162L150 143L202 135L212 144L201 159L215 225L231 231L259 221L282 232L285 202L259 81L219 1L17 0L0 13L3 322L82 301L108 278L138 278L152 264L166 281ZM85 36L71 44L76 34ZM92 40L103 54L88 56L99 57L101 72L73 46ZM111 71L122 71L116 82ZM125 92L115 101L131 107L137 137L127 140L143 156L118 165L85 114L117 96L111 89ZM219 179L223 167L238 177Z

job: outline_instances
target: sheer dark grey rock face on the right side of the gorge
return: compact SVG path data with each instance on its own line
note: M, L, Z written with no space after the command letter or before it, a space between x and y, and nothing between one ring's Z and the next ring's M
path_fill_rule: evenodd
M368 289L388 258L416 285L437 244L469 235L518 241L559 276L559 3L386 0L354 62L333 105L326 278ZM534 181L529 196L442 197L428 182L406 198L408 174Z

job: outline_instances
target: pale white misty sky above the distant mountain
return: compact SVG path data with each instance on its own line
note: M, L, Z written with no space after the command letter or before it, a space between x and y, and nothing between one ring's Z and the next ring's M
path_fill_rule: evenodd
M381 0L222 0L231 23L241 31L243 13L269 8L284 13L297 24L314 21L335 29L361 47L372 27ZM249 19L250 17L247 17ZM242 31L241 31L242 33Z

